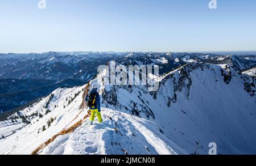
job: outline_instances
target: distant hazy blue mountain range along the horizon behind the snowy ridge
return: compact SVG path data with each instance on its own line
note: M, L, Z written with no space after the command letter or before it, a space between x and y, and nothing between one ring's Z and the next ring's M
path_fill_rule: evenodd
M250 55L155 52L0 54L0 113L10 110L15 112L19 107L48 95L57 87L81 86L96 76L98 66L108 65L109 61L126 66L156 64L159 65L160 75L191 62L228 63L239 71L256 65L255 56ZM25 99L24 96L28 97Z

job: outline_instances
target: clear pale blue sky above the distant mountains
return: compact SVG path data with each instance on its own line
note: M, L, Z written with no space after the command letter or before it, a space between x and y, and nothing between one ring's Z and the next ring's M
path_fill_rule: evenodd
M0 0L0 53L256 50L256 1Z

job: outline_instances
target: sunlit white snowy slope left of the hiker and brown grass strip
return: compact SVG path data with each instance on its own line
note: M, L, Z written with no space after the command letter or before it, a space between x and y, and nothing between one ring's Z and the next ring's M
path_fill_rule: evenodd
M39 103L32 105L31 108L26 108L18 114L14 114L14 116L26 117L28 124L13 135L0 140L0 154L31 154L40 144L53 135L79 121L86 114L86 112L81 112L75 118L80 112L81 90L82 87L59 88L52 92L53 96L50 95ZM79 95L75 97L77 93ZM73 101L68 105L72 98ZM51 121L51 118L53 121L48 126L47 122ZM45 130L43 126L45 126Z

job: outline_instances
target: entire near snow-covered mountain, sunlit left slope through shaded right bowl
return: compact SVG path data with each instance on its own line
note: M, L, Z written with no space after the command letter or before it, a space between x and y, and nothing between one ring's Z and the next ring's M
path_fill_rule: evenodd
M100 86L104 122L88 126L86 118L39 154L208 154L210 142L218 154L256 154L253 77L228 64L188 63L154 78L159 89L150 92L148 86L106 85L108 73L90 82ZM82 88L59 88L13 115L28 125L0 140L0 154L31 154L82 120Z

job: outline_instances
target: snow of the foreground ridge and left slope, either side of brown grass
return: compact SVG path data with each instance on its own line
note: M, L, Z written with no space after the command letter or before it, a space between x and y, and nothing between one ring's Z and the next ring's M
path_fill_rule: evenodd
M80 121L87 112L79 110L82 93L69 103L69 96L82 87L61 89L13 116L26 116L30 124L0 140L0 154L31 154L42 143L63 129ZM66 101L66 99L68 99ZM51 100L50 102L48 102ZM48 103L48 104L47 104ZM47 105L47 108L46 108ZM56 105L56 107L55 107ZM63 105L66 105L65 108ZM46 110L50 110L46 114ZM39 151L39 154L186 154L175 143L160 133L153 122L126 113L102 108L104 122L88 126L88 118L74 133L61 135ZM39 112L39 116L30 117ZM53 118L48 127L47 121ZM43 126L46 130L43 131ZM4 130L4 128L2 128ZM95 139L94 139L95 138ZM30 140L28 142L28 140ZM139 148L138 148L139 147Z

